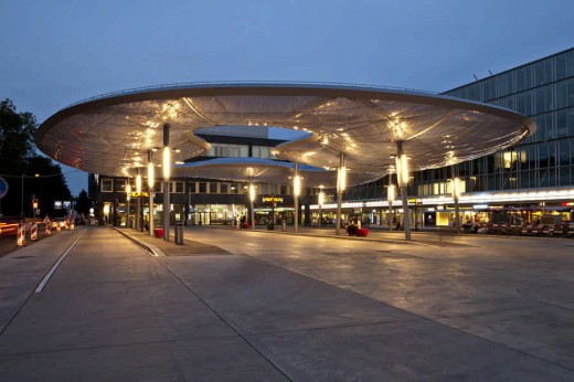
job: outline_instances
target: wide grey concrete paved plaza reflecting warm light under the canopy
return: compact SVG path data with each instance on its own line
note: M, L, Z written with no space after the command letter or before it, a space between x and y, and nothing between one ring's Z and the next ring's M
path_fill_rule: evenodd
M301 231L11 253L0 381L574 381L573 240Z

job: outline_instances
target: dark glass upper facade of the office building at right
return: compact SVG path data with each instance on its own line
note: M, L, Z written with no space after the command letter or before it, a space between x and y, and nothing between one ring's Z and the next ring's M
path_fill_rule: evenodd
M574 49L445 93L531 117L534 135L503 152L456 165L466 192L574 184ZM450 169L414 174L417 197L445 194Z

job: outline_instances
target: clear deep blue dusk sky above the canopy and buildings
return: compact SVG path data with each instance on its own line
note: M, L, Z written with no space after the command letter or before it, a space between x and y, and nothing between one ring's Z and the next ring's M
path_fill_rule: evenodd
M444 92L574 45L572 0L0 0L0 99L38 123L171 83L297 81ZM63 168L72 194L85 172Z

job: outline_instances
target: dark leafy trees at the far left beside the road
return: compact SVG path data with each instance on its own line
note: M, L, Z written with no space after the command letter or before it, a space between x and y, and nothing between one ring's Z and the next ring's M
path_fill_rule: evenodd
M54 200L71 200L62 168L35 151L36 129L32 114L18 113L10 99L0 102L0 177L9 183L0 201L4 216L20 216L22 212L32 216L33 197L40 201L42 214L51 215Z

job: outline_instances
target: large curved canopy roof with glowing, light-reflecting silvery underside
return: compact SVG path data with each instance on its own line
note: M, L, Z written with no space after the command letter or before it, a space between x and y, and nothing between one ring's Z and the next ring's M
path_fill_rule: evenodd
M532 134L528 118L497 106L375 87L305 84L204 84L146 88L97 97L60 110L36 134L51 158L84 171L127 176L162 146L170 124L174 161L210 144L211 126L276 126L310 132L277 147L281 159L334 169L344 153L349 183L394 172L396 142L410 169L439 168L513 146ZM158 153L153 158L161 162ZM193 176L190 169L189 174ZM221 170L223 171L223 170ZM360 176L359 176L360 174ZM219 178L213 171L211 178Z

